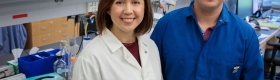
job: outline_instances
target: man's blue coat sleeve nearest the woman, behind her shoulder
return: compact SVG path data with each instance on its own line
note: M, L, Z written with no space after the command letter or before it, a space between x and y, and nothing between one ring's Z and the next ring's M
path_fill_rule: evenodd
M165 19L165 17L162 17L156 24L156 26L153 30L153 33L151 35L151 39L155 42L155 44L158 47L160 61L161 61L161 67L162 67L161 68L162 73L164 73L164 69L165 69L165 60L163 57L163 41L164 41L163 39L164 39L164 34L166 32L165 30L167 27L167 22L168 22L167 20L168 19Z

